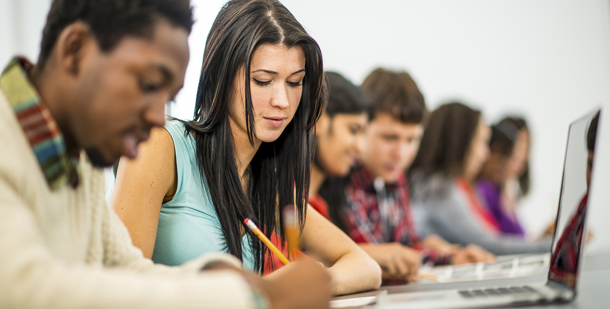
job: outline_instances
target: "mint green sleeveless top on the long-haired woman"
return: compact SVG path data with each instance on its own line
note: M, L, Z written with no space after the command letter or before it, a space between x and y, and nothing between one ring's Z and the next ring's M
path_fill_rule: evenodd
M165 129L174 140L178 188L173 199L161 205L152 261L182 265L207 252L228 252L207 180L202 182L199 173L193 136L184 136L184 124L179 121L168 121ZM242 238L242 255L243 267L253 271L254 254L248 235Z

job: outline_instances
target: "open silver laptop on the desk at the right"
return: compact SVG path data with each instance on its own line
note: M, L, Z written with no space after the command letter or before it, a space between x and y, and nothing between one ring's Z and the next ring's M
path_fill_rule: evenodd
M381 309L476 308L573 300L585 242L584 224L599 113L600 110L589 113L570 124L546 283L523 284L528 282L523 278L521 284L507 286L382 293L376 297L362 295L365 297L359 297L359 305L376 300L376 308ZM349 301L335 300L331 307L346 307ZM356 307L357 303L353 299L347 307Z

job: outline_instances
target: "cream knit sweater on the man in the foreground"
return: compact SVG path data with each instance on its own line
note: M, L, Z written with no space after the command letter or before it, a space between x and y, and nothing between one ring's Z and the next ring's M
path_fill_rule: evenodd
M103 171L81 156L81 185L51 191L0 90L0 308L252 308L235 272L210 259L154 265L104 201ZM239 261L237 261L239 263Z

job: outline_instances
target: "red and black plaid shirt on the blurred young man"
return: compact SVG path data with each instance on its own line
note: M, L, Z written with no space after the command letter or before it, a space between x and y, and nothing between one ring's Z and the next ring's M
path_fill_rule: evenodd
M356 243L397 242L420 250L423 263L450 263L453 255L442 255L420 244L404 175L396 183L384 183L381 179L374 180L362 165L356 165L349 177L345 189L348 208L344 218L351 239Z

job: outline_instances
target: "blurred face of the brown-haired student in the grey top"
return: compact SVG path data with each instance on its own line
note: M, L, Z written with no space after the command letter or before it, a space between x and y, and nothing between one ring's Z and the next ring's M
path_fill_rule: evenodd
M489 157L489 146L487 144L489 143L490 135L491 130L489 126L487 126L483 119L479 120L475 136L470 142L470 147L468 147L465 155L464 175L462 176L468 182L475 180Z

